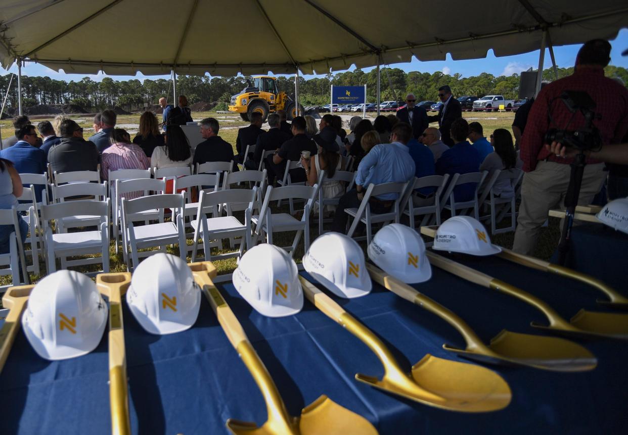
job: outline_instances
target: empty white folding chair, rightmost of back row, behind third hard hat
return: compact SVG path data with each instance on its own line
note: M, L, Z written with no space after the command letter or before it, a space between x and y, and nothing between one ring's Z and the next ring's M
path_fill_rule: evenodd
M259 216L253 215L251 218L251 221L256 225L253 244L256 244L257 239L264 234L266 234L266 242L272 244L274 232L296 231L292 245L284 247L284 249L288 249L288 253L293 255L301 239L301 234L305 233L304 242L305 250L307 251L310 248L310 210L317 195L318 185L283 186L278 188L268 186ZM271 213L271 208L269 207L271 201L286 199L306 201L303 207L303 216L300 220L288 213Z

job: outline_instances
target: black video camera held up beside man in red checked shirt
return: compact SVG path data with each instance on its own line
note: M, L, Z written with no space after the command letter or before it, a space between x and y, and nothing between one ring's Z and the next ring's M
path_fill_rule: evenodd
M593 125L594 119L601 119L601 116L595 113L595 101L587 92L577 90L565 90L558 98L571 112L571 119L565 129L549 129L545 134L544 143L560 142L565 146L576 148L580 151L600 149L602 147L602 136L598 128ZM585 124L580 129L568 130L567 127L571 124L577 112L582 113L585 118ZM552 121L551 109L549 110L549 119Z

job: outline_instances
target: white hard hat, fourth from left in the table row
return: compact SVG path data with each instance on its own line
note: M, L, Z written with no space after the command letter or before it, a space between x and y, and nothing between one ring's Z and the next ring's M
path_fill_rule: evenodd
M341 298L369 294L371 277L364 252L351 237L329 232L314 240L303 255L303 266L311 276Z

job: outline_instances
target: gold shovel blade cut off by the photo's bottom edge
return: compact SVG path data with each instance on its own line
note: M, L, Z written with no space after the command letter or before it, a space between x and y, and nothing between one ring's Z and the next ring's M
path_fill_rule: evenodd
M367 419L338 405L326 395L303 408L301 417L290 422L291 427L286 427L284 423L274 424L269 420L262 427L257 427L252 422L229 419L227 427L236 435L377 435L377 430Z

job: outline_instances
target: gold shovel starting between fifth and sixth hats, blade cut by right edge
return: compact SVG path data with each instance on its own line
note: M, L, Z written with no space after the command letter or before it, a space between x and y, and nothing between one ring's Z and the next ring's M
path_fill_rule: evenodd
M533 321L531 325L534 326L534 328L553 331L563 335L582 337L598 336L628 340L628 315L626 314L597 313L595 311L581 309L570 321L566 321L560 314L556 313L555 309L551 308L551 306L533 294L512 286L507 282L478 272L475 269L463 266L453 260L441 257L441 255L430 251L426 251L425 253L433 266L440 267L440 269L444 271L450 272L467 281L474 282L475 284L479 284L480 286L513 296L541 311L548 319L549 325L540 325Z

